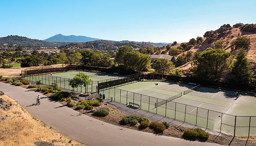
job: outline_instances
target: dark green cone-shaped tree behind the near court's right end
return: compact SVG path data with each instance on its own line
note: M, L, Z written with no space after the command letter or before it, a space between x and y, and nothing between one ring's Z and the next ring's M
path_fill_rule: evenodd
M252 66L246 58L246 51L240 49L231 65L229 81L232 83L248 85L252 80L252 77Z

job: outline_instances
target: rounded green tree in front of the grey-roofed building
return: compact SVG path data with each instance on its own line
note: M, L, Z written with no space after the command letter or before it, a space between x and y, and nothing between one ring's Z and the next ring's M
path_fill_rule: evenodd
M155 69L157 73L167 74L175 67L172 61L165 58L158 58L152 63L152 68Z

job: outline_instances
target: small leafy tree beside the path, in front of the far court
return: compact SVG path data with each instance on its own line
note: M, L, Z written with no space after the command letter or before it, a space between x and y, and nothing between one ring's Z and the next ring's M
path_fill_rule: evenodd
M78 86L84 85L85 91L86 91L86 85L91 83L91 79L88 75L84 73L77 73L76 76L73 77L73 79L68 80L68 84L73 88L77 88Z

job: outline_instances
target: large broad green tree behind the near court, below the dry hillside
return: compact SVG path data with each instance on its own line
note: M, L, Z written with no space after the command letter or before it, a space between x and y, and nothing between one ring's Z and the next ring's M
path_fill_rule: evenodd
M219 79L227 68L227 59L230 52L222 49L207 48L197 52L192 59L193 75L202 79Z

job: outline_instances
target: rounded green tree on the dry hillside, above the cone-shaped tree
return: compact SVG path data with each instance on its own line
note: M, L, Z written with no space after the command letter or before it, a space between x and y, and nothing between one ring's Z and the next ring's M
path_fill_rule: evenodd
M235 40L231 41L231 50L234 49L248 49L250 46L250 39L247 37L237 37Z

